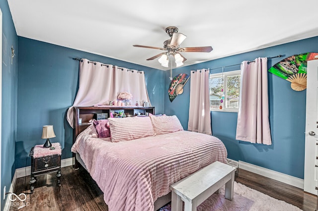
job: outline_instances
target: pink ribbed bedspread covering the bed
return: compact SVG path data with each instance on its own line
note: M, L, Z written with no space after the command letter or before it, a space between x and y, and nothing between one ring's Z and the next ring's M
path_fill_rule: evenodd
M169 185L219 160L227 150L216 137L178 131L112 143L95 138L89 126L72 152L79 153L91 177L104 192L109 211L152 211L169 193Z

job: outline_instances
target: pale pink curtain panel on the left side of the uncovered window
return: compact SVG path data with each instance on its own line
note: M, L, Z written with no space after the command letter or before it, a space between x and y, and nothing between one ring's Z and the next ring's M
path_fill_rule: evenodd
M212 135L207 69L191 71L188 130Z

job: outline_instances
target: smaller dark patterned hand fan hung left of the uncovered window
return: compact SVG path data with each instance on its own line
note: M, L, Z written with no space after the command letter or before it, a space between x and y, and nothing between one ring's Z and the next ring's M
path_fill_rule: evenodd
M177 95L181 95L183 93L183 86L189 80L189 77L190 76L185 73L180 73L179 75L174 76L168 89L170 102L172 102Z

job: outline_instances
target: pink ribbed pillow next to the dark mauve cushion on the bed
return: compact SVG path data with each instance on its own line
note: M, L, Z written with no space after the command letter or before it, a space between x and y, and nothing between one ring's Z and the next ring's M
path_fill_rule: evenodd
M155 136L150 117L108 118L112 142Z

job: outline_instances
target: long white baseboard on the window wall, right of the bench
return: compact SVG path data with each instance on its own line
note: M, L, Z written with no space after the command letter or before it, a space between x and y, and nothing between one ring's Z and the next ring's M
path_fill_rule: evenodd
M271 179L275 179L277 181L295 186L297 188L304 189L304 179L300 179L298 177L290 176L288 174L284 174L278 171L273 171L268 168L263 168L258 165L253 165L247 162L243 162L239 160L239 168L253 172L255 174L259 174Z

